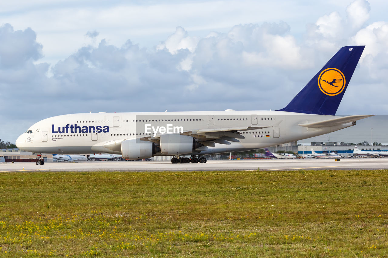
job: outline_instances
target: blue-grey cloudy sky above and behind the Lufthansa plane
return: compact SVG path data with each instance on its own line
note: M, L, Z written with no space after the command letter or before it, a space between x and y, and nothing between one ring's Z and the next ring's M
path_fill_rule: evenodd
M283 108L345 45L366 47L337 114L388 114L387 10L386 0L2 1L0 139L61 114ZM370 139L345 130L355 137L345 141Z

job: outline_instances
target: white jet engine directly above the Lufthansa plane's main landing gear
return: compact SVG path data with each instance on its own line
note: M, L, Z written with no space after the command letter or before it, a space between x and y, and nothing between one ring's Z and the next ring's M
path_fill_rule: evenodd
M184 155L203 146L191 136L180 134L163 134L160 136L160 152L165 155Z

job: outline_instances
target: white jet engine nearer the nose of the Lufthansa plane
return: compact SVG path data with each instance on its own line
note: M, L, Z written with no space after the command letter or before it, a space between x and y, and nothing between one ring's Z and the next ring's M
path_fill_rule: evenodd
M156 152L155 144L149 141L132 139L121 142L121 155L126 160L151 158Z

